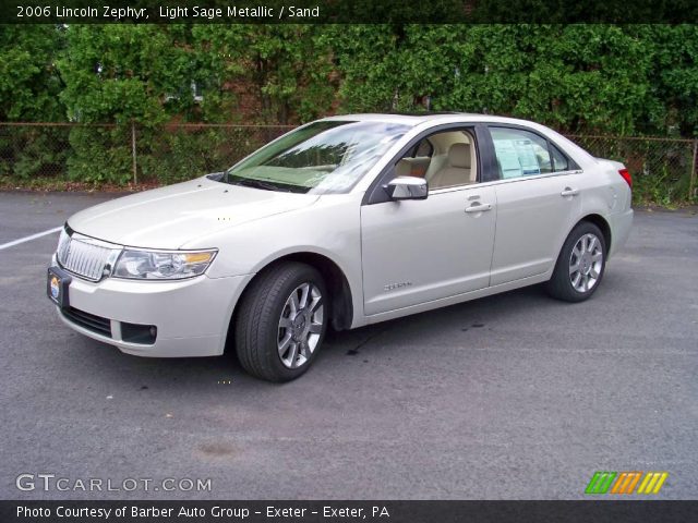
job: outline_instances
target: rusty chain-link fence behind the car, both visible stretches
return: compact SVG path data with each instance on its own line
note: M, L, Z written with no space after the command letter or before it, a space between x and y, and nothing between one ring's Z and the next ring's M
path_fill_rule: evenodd
M289 125L0 123L0 181L167 184L220 171ZM593 156L624 162L637 203L696 203L696 139L576 135Z

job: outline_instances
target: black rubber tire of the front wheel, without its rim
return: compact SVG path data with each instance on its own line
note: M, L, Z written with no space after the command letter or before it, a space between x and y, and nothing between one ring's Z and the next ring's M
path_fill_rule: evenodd
M281 314L288 314L287 300L290 300L291 293L305 283L311 285L311 290L320 292L323 307L321 311L322 328L320 338L314 337L317 343L310 357L293 357L291 353L287 353L289 361L299 362L304 358L302 364L290 368L279 355L281 332L286 332L286 329L280 330L279 321ZM313 267L288 262L261 272L245 290L233 324L236 351L242 367L252 376L267 381L290 381L301 376L315 361L322 346L329 317L328 306L329 296L325 282ZM304 318L301 318L301 323L305 325ZM316 324L315 329L317 329ZM296 332L290 327L288 331L289 336L291 332ZM301 346L303 346L302 343L298 345L299 352L301 352Z

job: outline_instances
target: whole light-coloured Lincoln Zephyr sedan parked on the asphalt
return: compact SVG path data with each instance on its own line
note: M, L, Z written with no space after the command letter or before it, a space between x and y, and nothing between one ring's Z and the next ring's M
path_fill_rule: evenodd
M48 271L60 318L142 356L285 381L326 329L545 282L593 294L633 222L631 179L535 123L358 114L225 172L77 212Z

